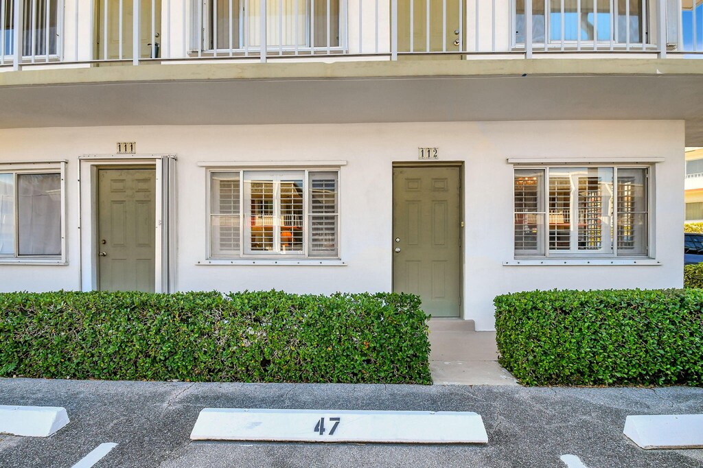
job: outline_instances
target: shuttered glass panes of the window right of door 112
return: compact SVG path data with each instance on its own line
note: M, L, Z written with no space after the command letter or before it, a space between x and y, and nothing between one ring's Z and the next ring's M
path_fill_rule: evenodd
M645 167L515 169L515 256L645 256L647 203Z

